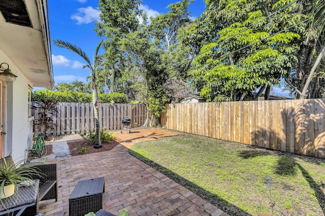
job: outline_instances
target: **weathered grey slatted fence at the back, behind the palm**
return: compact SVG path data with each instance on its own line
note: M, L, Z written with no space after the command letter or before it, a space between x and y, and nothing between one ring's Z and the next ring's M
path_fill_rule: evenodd
M63 134L84 133L95 130L95 118L92 103L67 103L60 102L57 105L57 113L53 112L53 120L56 130L48 131L54 136ZM143 104L101 103L100 124L108 130L120 130L123 128L122 119L131 119L129 127L139 127L146 120L146 106ZM34 119L38 119L38 111L32 110ZM38 133L34 128L34 133Z

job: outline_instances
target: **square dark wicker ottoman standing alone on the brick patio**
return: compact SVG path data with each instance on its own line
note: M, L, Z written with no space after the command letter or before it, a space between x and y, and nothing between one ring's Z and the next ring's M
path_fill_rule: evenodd
M103 208L104 184L104 177L77 182L69 198L69 215L85 215Z

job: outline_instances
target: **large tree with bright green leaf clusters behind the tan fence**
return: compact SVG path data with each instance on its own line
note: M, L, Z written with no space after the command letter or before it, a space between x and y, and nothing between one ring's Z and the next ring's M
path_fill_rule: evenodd
M306 18L298 4L269 16L290 2L205 1L206 11L185 35L202 46L190 71L201 96L236 101L266 88L268 99L271 86L293 70L304 33L301 25L277 33Z

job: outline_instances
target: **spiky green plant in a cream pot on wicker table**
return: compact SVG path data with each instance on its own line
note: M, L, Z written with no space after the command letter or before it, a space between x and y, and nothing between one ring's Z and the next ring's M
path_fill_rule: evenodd
M10 158L10 159L9 159ZM7 198L14 194L15 189L18 191L18 184L35 185L31 181L31 175L39 175L40 172L32 166L24 165L16 167L11 156L1 158L0 163L0 198ZM20 161L20 164L23 161Z

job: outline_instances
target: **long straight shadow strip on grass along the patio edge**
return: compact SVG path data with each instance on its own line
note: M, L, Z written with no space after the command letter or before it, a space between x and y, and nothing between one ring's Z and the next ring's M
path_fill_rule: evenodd
M238 208L237 206L227 202L226 200L218 197L216 194L212 194L211 192L201 188L200 186L188 181L187 179L183 178L182 176L172 172L171 170L167 169L166 167L160 166L159 164L151 161L150 159L140 155L137 152L132 151L131 149L128 150L128 153L142 162L146 163L147 165L151 166L155 170L159 171L160 173L163 173L167 177L173 179L176 183L179 185L185 187L186 189L190 190L191 192L197 194L202 199L210 202L211 204L217 206L224 212L230 214L230 215L251 215L244 211L241 208Z

